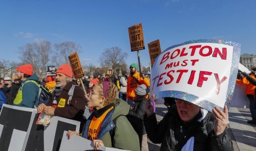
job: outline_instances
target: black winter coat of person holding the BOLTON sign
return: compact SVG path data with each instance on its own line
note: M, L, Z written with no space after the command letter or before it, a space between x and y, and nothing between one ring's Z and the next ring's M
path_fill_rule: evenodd
M194 136L194 150L233 150L227 129L218 136L214 135L213 114L208 112L199 123L198 119L201 117L202 114L199 112L192 121L183 123L175 104L168 108L165 117L158 124L155 113L150 117L145 115L144 125L150 141L162 143L160 150L177 150L178 147L181 149L184 144L178 144L184 141L186 135Z

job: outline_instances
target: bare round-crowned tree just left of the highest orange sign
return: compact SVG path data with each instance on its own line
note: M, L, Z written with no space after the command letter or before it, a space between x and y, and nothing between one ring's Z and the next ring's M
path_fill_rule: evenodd
M126 64L127 56L128 54L119 47L107 48L100 56L100 65L102 67L110 67L113 71L116 71L116 69Z

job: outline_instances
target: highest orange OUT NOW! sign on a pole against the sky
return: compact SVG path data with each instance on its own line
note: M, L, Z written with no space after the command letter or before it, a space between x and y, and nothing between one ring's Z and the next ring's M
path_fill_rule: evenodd
M128 28L130 37L130 50L137 51L145 49L142 24L137 24Z

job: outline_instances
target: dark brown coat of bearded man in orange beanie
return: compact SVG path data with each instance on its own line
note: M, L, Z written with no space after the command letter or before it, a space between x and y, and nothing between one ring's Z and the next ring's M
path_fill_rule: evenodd
M68 91L72 88L72 85L76 85L75 82L68 82L62 92L58 97L55 96L55 91L52 93L52 98L46 104L46 106L52 106L53 100L57 101L57 107L55 108L54 114L58 117L73 119L81 122L81 130L84 124L83 114L85 109L85 96L84 92L79 88L79 86L75 86L72 100L69 101Z

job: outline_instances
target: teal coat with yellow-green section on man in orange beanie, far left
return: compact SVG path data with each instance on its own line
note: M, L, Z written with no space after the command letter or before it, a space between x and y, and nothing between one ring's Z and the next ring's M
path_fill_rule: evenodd
M20 89L17 96L14 99L13 105L20 107L34 108L38 106L37 98L39 92L39 86L34 82L27 82L28 80L34 80L35 83L38 83L39 77L36 74L32 74L31 77L23 80L21 82ZM22 94L22 97L21 97ZM21 100L20 100L21 99ZM21 101L21 102L20 102ZM18 103L20 102L20 103Z

